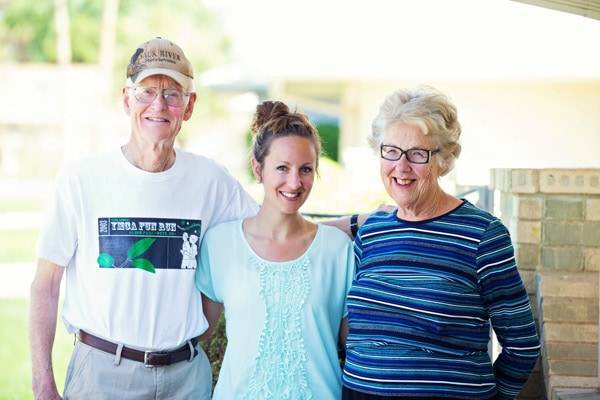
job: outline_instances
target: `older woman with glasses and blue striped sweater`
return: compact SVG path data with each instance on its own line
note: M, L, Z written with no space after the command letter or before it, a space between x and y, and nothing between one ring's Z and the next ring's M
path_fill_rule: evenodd
M432 88L391 94L373 122L397 208L371 214L356 236L344 399L514 398L536 362L508 231L438 182L460 132L455 106ZM502 345L493 364L490 323Z

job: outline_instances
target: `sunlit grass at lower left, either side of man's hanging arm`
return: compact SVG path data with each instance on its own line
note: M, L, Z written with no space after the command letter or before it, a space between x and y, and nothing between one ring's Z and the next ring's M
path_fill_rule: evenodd
M28 337L29 300L0 299L0 400L32 399L31 357ZM59 321L52 359L54 376L62 393L73 336Z

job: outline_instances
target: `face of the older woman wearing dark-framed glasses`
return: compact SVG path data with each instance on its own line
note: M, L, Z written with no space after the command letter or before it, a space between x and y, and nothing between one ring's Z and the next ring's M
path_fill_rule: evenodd
M405 151L437 150L430 136L424 135L416 125L404 122L390 125L385 131L382 144L392 145ZM438 187L439 177L439 167L434 157L437 155L431 155L426 164L409 162L406 153L402 154L397 161L380 157L381 180L385 190L398 207L410 208L432 199Z

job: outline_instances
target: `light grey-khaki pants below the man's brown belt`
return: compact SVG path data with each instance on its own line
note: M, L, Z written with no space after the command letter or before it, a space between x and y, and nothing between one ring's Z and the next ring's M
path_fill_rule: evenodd
M210 363L200 346L192 361L148 368L77 342L63 398L76 399L199 399L209 400Z

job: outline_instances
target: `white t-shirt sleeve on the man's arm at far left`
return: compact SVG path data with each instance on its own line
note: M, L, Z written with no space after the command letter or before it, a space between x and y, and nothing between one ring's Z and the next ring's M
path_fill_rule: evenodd
M56 181L54 197L38 239L38 257L63 267L69 264L77 249L80 210L77 193L77 180L63 170Z

